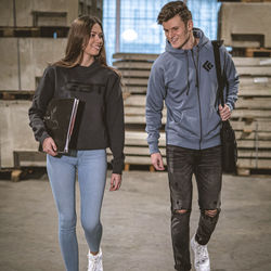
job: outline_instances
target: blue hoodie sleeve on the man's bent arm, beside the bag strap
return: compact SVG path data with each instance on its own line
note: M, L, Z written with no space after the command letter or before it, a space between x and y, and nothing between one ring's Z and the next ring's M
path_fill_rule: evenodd
M234 109L234 104L238 96L238 75L233 63L231 55L228 53L223 47L222 53L224 54L224 73L227 78L227 91L225 91L225 103L229 105L231 111Z

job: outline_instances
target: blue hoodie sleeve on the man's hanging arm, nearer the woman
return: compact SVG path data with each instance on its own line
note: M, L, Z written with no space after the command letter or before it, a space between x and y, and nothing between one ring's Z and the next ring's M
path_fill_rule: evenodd
M164 80L164 70L154 63L147 83L146 92L146 132L150 153L158 153L159 130L162 127L162 111L164 99L166 96L166 87Z

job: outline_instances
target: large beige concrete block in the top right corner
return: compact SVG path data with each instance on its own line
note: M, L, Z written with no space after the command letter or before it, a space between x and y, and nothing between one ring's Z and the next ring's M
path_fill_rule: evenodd
M271 48L271 3L222 3L219 16L220 38L230 47L260 47L251 35L263 35L261 47ZM243 40L233 40L232 35L247 35Z

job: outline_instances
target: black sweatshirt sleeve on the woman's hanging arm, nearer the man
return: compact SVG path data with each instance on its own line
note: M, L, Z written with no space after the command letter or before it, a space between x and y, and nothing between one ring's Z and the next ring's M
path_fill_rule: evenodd
M124 169L125 121L124 101L120 78L109 79L106 94L106 126L109 136L109 149L113 153L113 173L121 175Z

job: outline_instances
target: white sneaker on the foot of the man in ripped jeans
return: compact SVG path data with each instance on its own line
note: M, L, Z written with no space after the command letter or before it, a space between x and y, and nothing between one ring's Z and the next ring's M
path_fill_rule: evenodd
M194 268L196 271L210 271L210 259L207 245L199 245L195 241L195 235L191 240L191 248L194 253Z

